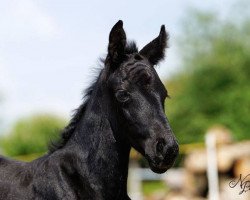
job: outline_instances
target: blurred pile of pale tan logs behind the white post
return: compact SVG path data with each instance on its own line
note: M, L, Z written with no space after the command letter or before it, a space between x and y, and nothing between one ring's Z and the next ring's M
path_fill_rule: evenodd
M248 174L250 179L250 141L233 143L231 133L224 128L212 129L209 134L215 134L216 136L220 199L249 200L250 180L248 191L242 194L239 194L242 190L240 184L232 188L229 183L232 180L237 181L240 176L245 177ZM171 185L171 181L166 179L166 183L172 192L167 195L165 200L208 198L205 148L195 149L186 156L182 174L183 179L178 187Z

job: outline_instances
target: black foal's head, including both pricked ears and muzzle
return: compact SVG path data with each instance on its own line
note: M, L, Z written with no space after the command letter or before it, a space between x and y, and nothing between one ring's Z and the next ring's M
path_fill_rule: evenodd
M164 58L167 33L160 34L139 52L126 42L122 21L109 36L105 60L107 84L118 112L121 137L148 160L157 173L169 169L178 155L178 144L164 112L167 90L154 66Z

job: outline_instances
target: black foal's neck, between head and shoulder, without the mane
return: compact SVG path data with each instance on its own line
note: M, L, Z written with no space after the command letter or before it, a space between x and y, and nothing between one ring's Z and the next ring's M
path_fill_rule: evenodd
M95 88L69 147L82 157L81 163L91 171L89 176L119 196L127 193L130 145L120 137L117 117L108 89L103 85Z

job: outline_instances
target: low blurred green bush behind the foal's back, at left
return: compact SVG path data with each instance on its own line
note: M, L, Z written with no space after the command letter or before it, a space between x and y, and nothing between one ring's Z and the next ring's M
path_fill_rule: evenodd
M53 115L36 115L20 119L3 138L1 149L5 155L18 156L47 151L48 143L59 137L65 121Z

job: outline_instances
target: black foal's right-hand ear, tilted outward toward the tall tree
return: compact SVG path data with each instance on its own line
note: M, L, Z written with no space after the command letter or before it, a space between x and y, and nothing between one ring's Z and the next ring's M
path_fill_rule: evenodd
M168 34L165 26L162 25L159 36L143 47L140 54L145 56L152 65L156 65L165 56L167 41Z

